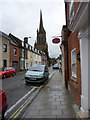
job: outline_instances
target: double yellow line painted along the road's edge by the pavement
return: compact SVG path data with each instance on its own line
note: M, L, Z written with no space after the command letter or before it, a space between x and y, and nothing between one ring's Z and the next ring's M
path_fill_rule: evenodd
M43 85L41 85L18 109L16 112L14 112L11 117L8 120L13 120L15 118L17 118L20 113L22 112L22 110L31 102L31 100L35 97L35 95L40 91L40 89L43 87Z

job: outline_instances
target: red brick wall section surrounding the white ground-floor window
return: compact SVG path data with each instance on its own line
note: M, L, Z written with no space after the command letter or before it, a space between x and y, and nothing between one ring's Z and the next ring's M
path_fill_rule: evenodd
M72 78L71 71L71 51L76 48L76 71L77 78L76 81ZM77 59L77 53L80 51L79 39L77 37L77 33L71 33L68 38L68 54L69 54L69 87L70 90L76 99L78 105L81 105L81 66L80 61Z

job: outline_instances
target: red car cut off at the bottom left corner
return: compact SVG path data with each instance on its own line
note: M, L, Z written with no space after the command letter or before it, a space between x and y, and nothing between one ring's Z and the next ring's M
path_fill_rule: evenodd
M7 110L7 99L5 92L0 89L0 118L4 119L4 114Z

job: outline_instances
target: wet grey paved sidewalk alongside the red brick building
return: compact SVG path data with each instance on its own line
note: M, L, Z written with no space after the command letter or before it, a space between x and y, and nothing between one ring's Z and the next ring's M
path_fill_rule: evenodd
M78 118L78 106L57 71L22 118Z

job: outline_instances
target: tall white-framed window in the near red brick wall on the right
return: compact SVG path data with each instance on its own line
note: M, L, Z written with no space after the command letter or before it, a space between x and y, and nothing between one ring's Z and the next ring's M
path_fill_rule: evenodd
M76 48L74 48L71 51L71 71L72 71L72 77L77 77L76 73Z

